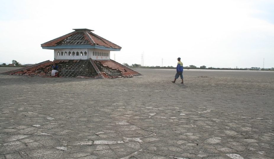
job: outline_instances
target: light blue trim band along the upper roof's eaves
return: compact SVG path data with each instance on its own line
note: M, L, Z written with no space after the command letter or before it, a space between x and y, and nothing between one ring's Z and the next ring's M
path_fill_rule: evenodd
M42 47L42 49L102 49L102 50L110 50L110 51L120 51L121 49L115 49L111 47L104 47L99 45L57 45L53 47Z

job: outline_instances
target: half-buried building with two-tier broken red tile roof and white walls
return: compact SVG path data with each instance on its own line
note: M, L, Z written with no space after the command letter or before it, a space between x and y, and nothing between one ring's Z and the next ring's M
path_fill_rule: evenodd
M54 50L54 61L44 61L30 67L2 74L50 76L53 64L59 66L60 77L133 77L138 72L110 59L111 51L122 47L93 33L90 29L74 32L41 44Z

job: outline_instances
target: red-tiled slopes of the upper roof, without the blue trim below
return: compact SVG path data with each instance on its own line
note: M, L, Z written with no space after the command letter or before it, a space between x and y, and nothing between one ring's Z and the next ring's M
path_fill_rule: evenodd
M74 29L74 32L58 37L41 44L41 47L54 47L58 45L99 45L108 48L121 49L122 47L104 39L89 29Z

